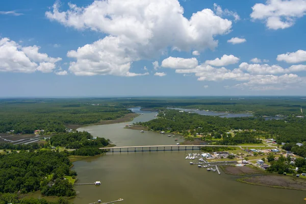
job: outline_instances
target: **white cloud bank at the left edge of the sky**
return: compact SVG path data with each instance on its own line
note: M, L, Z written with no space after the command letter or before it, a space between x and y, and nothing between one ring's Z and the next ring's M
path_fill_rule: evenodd
M22 47L9 38L0 39L0 71L31 73L38 70L47 73L52 72L55 63L62 60L38 51L36 45Z

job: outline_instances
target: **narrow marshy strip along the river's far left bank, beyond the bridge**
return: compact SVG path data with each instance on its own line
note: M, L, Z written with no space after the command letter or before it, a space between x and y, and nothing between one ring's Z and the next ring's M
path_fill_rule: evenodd
M139 116L138 113L128 113L128 114L124 115L123 117L117 118L115 120L101 120L97 123L92 123L92 124L65 124L65 126L67 128L72 129L72 130L77 130L80 127L86 127L86 126L89 126L89 125L101 125L101 124L114 124L114 123L121 123L121 122L130 122L134 118L136 118L137 116Z

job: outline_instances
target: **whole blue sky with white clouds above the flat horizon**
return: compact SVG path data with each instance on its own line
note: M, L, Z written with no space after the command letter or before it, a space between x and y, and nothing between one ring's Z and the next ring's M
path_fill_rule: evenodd
M0 97L305 95L305 14L305 0L2 1Z

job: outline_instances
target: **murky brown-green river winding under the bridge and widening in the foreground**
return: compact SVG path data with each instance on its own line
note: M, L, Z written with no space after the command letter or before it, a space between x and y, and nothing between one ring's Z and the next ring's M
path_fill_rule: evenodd
M142 113L132 122L154 119L157 113ZM92 125L94 137L106 137L117 146L175 144L172 137L156 132L124 129L126 123ZM74 162L78 183L101 181L100 186L75 186L75 204L123 198L122 204L144 203L304 203L304 191L277 189L237 182L236 176L190 165L185 154L192 151L108 152L103 156ZM194 151L198 152L198 150Z

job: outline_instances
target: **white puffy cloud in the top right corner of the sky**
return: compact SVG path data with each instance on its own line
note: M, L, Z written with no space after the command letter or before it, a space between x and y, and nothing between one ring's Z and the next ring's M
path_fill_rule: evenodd
M269 29L292 27L297 18L306 14L305 0L268 0L266 4L255 4L250 14L252 19L266 22Z

